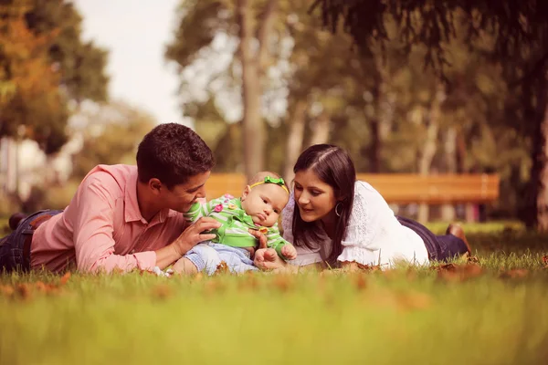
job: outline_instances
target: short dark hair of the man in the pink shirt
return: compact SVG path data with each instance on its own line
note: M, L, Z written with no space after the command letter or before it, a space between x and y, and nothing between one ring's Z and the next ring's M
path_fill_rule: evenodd
M182 124L160 124L148 132L137 150L139 181L159 179L168 189L186 183L215 165L212 151L194 130Z

